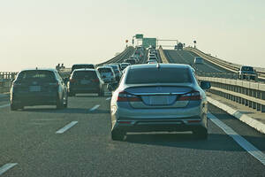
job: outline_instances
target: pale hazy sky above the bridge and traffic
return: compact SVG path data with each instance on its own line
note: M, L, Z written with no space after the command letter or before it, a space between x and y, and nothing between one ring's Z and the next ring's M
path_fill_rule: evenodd
M265 68L264 0L0 0L0 72L100 63L135 34Z

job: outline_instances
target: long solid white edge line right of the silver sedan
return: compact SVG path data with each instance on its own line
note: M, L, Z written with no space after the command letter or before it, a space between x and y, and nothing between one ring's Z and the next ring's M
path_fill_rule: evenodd
M258 150L254 145L250 142L247 142L245 138L241 135L237 134L231 127L226 126L220 119L217 119L212 113L208 113L208 119L212 120L216 124L216 126L220 127L223 132L227 135L230 135L235 142L246 150L249 154L251 154L254 158L259 160L262 165L265 165L265 154Z

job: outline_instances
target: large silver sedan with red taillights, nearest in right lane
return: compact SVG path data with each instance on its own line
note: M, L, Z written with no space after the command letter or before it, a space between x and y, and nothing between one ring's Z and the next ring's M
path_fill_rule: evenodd
M110 103L111 138L127 132L193 131L208 137L208 102L190 65L130 65Z

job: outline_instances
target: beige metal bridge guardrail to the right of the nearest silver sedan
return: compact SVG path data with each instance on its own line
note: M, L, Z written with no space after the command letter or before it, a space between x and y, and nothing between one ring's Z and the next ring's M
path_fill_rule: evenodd
M199 81L211 82L212 87L208 90L209 92L265 112L264 83L201 76L197 78Z

